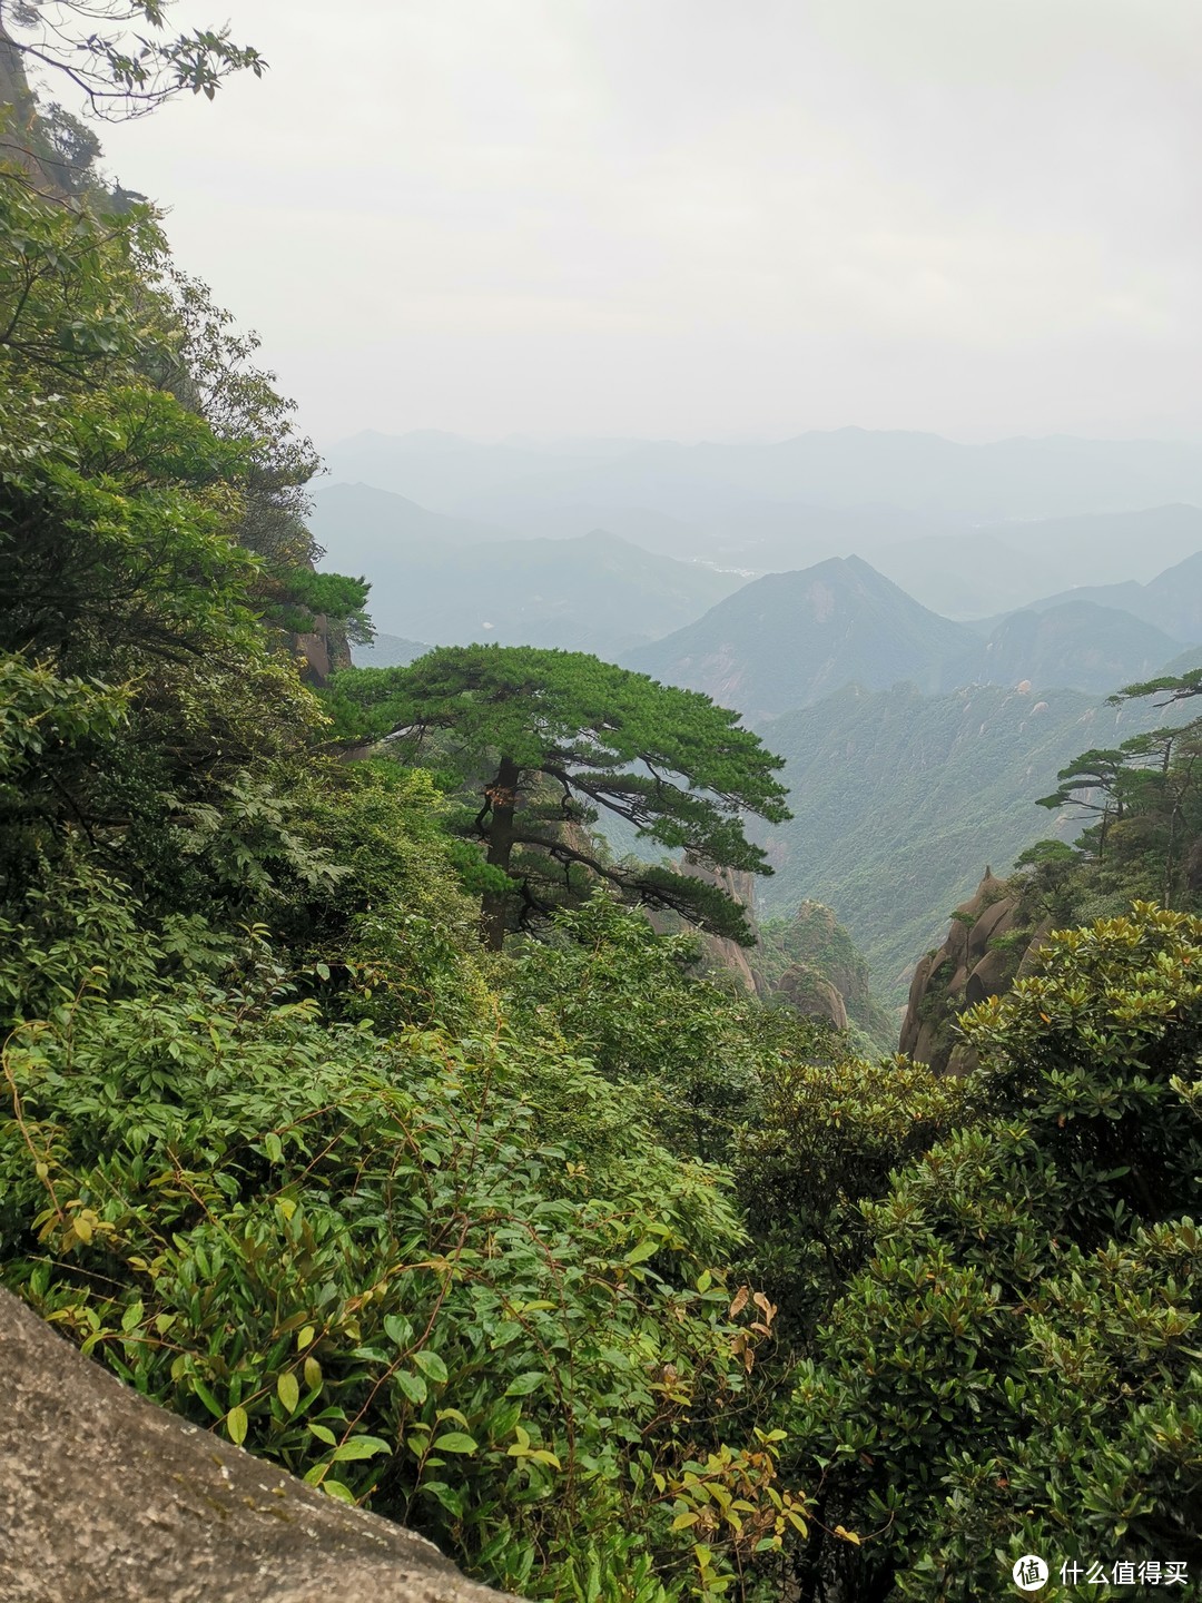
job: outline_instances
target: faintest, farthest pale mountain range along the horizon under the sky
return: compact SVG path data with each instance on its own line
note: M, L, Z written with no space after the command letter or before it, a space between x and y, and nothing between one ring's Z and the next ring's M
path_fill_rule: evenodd
M1053 436L958 444L938 434L841 428L774 444L582 439L484 446L422 431L357 434L332 473L439 511L521 523L521 508L643 507L708 526L737 508L891 507L968 521L1202 503L1202 446Z

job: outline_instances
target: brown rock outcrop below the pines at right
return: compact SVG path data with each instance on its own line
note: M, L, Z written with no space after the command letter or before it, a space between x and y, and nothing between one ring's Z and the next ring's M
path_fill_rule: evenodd
M986 867L976 891L952 914L944 944L914 971L899 1052L938 1074L973 1069L976 1053L952 1029L957 1015L1006 992L1047 931L1048 925L1024 927L1019 898Z

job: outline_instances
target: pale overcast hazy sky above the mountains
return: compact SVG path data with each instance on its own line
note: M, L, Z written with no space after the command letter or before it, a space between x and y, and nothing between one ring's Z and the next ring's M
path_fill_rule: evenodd
M1202 434L1197 0L181 0L106 131L319 444Z

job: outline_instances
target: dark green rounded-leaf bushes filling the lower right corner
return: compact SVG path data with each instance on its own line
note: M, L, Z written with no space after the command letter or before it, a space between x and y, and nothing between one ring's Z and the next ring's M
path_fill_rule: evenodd
M965 1015L973 1124L867 1209L798 1374L822 1523L880 1532L851 1561L819 1534L814 1584L971 1600L998 1557L1202 1557L1199 962L1199 920L1138 906Z

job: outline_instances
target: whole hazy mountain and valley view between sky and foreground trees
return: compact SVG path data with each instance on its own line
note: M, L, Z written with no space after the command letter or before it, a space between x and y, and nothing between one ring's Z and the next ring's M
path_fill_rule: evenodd
M1064 515L1072 494L1099 494L1074 478L1095 458L1066 442L1011 442L998 452L1019 465L1026 505L1058 515L989 523L992 466L979 481L957 468L958 495L981 521L952 532L931 463L963 458L944 444L853 434L821 462L817 442L537 452L370 436L332 465L375 471L388 487L332 486L313 527L329 563L372 575L383 633L356 648L364 665L418 654L393 633L431 646L522 641L595 651L739 710L785 757L793 811L760 837L774 872L756 888L758 915L789 917L808 898L833 907L873 992L896 1010L986 862L1006 872L1032 842L1075 837L1071 811L1048 818L1034 805L1059 769L1160 717L1106 697L1196 665L1189 648L1202 643L1202 511L1165 502ZM1175 474L1188 454L1119 457L1160 474L1144 494L1184 483ZM914 505L768 499L838 484L848 500L837 470L862 471L865 495L909 486ZM405 491L471 518L426 511ZM744 502L753 510L740 521L739 497L752 492L760 500ZM535 537L516 532L524 518ZM593 518L625 532L582 531ZM915 534L923 524L939 532ZM760 572L769 558L792 566ZM622 821L599 827L615 851L646 853Z

